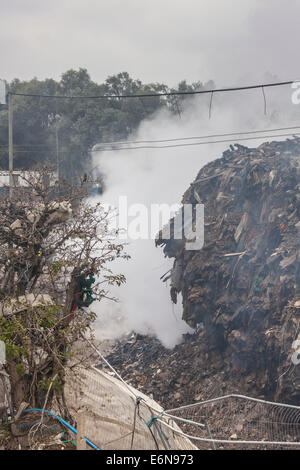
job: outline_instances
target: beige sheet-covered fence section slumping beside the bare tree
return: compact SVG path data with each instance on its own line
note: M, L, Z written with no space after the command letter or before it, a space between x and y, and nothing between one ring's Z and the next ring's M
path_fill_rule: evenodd
M163 409L156 402L102 371L80 368L65 392L75 421L83 410L85 435L101 450L196 449L176 424L174 432L157 419Z

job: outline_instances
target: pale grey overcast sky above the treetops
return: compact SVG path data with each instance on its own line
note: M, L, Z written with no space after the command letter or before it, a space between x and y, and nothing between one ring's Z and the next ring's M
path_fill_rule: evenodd
M0 77L298 79L300 0L0 0Z

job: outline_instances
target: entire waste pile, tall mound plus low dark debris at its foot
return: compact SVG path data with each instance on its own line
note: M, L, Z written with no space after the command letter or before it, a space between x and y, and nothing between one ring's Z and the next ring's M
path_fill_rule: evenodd
M157 245L195 333L172 351L135 335L109 360L167 408L225 393L299 404L300 139L230 146L182 202L204 204L203 248Z

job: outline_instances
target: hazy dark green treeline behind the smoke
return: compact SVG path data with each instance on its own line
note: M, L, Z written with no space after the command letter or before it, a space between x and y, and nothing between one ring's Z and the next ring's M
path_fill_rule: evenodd
M203 88L201 82L179 83L177 90ZM206 84L213 87L213 83ZM86 69L68 70L60 81L53 79L13 80L8 89L33 95L127 95L173 91L161 83L144 84L127 72L108 77L98 84ZM140 122L161 107L180 113L184 96L136 99L50 99L13 96L14 167L30 169L36 165L59 162L60 174L76 180L89 169L90 150L96 143L122 140ZM7 107L0 109L0 168L8 168Z

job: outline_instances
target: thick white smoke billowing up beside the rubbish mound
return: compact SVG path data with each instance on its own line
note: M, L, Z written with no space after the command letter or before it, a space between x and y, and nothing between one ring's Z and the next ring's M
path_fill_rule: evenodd
M181 118L165 110L160 111L142 122L128 140L173 139L296 126L300 108L291 102L292 89L289 86L268 88L265 94L266 115L260 89L215 94L211 119L208 117L210 95L201 95L185 102ZM266 131L263 135L276 136L288 132L291 131ZM238 141L235 137L224 139L231 139L231 142L94 153L93 163L99 166L106 178L106 190L99 197L100 201L117 206L119 196L126 195L128 205L141 203L150 208L152 203L178 204L200 168L220 158L230 143ZM285 137L276 140L283 139ZM256 147L266 140L275 139L261 138L241 141L240 144ZM155 248L153 239L129 241L126 251L131 255L131 260L120 260L112 266L114 272L123 273L127 278L124 286L113 289L112 293L119 302L105 300L93 305L93 310L98 314L97 336L99 339L114 339L134 330L153 335L166 347L172 348L182 340L182 334L192 333L181 319L180 298L178 304L173 306L169 285L160 280L172 267L173 260L164 258L162 249Z

